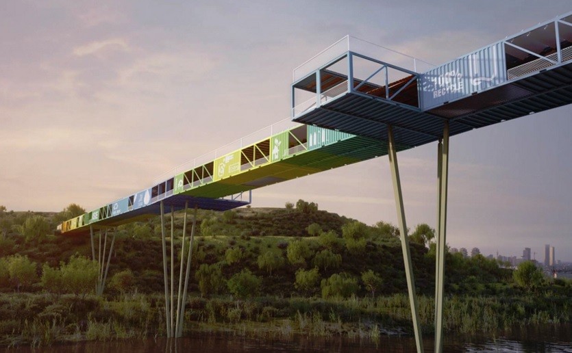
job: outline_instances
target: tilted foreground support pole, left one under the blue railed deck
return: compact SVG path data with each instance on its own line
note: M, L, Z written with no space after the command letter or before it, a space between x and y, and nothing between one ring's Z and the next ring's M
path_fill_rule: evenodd
M393 179L393 192L395 194L395 207L397 208L397 219L399 220L399 233L401 235L401 250L403 251L403 263L405 265L405 274L407 278L407 287L409 291L409 302L411 306L411 316L413 321L413 329L415 331L415 343L417 352L423 352L423 339L421 338L421 323L419 322L419 313L417 310L417 296L415 293L415 282L413 277L413 266L411 262L411 253L409 249L409 239L407 235L407 224L405 220L405 209L403 208L403 195L401 194L401 181L399 179L399 168L397 166L397 150L395 140L393 140L393 129L388 125L389 138L389 164L391 167L391 177Z

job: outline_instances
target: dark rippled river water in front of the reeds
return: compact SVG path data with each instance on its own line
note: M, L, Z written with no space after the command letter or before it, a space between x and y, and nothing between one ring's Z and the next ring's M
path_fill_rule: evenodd
M427 335L428 336L428 335ZM428 338L428 337L427 337ZM572 325L515 328L497 339L446 335L444 352L571 352ZM424 340L433 352L432 339ZM414 352L412 337L385 336L377 341L340 337L301 337L272 341L245 337L195 333L183 339L143 339L88 342L47 348L1 349L0 352L103 353L103 352Z

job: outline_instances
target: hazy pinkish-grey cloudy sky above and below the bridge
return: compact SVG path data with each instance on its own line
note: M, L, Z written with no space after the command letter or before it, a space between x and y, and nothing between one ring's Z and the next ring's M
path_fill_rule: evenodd
M454 5L452 5L454 3ZM290 116L292 70L347 34L443 64L569 0L2 1L0 205L95 209ZM570 107L451 138L447 243L572 261ZM398 155L410 228L436 223L436 142ZM387 157L253 191L397 224Z

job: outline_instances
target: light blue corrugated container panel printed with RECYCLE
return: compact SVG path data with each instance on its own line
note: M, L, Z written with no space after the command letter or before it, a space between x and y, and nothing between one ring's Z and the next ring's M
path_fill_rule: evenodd
M421 74L421 104L429 109L506 81L501 43Z

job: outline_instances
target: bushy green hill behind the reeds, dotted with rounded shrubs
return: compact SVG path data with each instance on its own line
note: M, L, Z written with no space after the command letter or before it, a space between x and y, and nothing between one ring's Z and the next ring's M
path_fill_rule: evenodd
M54 285L55 279L51 283L49 280L57 278L53 276L55 271L71 272L80 260L92 262L88 260L88 237L48 234L53 233L58 222L83 213L82 207L72 204L60 213L44 214L7 212L5 207L0 210L0 224L3 224L0 291L82 295L92 291L95 285L84 285L85 291L78 291ZM181 255L186 257L177 253L182 214L175 214L174 223L173 243L179 261ZM368 226L320 211L314 202L304 200L287 202L284 209L201 211L198 223L190 290L201 296L230 293L239 298L264 295L349 298L406 291L399 229L393 224L378 222ZM160 293L158 218L120 226L116 234L109 292ZM433 238L434 230L427 224L419 224L410 231L416 287L425 295L434 291ZM520 283L514 280L512 270L481 254L466 257L461 252L448 252L446 256L447 293L514 294L541 287L543 283L543 278L536 279L535 285ZM82 271L88 272L86 268Z

